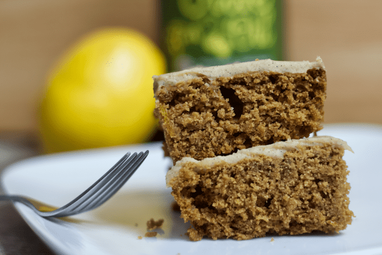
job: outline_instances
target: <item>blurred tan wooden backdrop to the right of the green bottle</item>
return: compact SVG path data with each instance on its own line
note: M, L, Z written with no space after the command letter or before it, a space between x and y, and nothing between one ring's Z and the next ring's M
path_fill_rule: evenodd
M325 63L325 122L382 124L382 1L285 3L287 57Z

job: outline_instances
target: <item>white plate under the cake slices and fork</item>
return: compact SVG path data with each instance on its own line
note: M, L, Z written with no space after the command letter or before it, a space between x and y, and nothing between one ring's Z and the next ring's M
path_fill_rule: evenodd
M47 220L26 206L16 209L31 228L58 254L382 254L382 127L326 125L319 135L348 142L346 151L351 184L350 209L356 217L339 234L271 236L245 241L203 239L192 242L179 214L171 211L170 189L165 187L169 161L161 143L84 150L30 158L9 166L2 183L8 194L28 195L61 206L101 177L127 151L149 149L138 171L100 208L72 217ZM163 218L163 231L143 237L150 218Z

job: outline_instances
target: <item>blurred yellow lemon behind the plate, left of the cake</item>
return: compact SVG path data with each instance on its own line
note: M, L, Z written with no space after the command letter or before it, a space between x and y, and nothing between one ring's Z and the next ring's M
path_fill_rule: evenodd
M162 52L134 30L85 36L48 77L39 108L45 151L147 141L157 124L151 77L165 71Z

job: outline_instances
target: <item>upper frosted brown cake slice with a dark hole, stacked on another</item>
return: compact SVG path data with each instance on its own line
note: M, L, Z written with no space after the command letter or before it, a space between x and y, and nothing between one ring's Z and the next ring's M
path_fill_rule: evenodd
M153 79L155 113L174 162L304 138L322 128L321 58L195 67Z

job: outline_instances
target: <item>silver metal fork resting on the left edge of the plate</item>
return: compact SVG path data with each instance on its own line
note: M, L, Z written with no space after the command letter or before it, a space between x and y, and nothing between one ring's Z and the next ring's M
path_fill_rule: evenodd
M26 197L14 195L0 195L0 200L11 200L13 202L21 202L28 207L32 208L34 212L44 218L49 217L66 217L83 212L93 210L100 205L104 204L111 198L122 186L130 179L137 168L142 164L143 160L147 157L149 151L140 153L130 152L125 154L105 175L103 175L97 182L91 185L81 195L76 197L66 205L55 209L53 211L40 211L31 201Z

